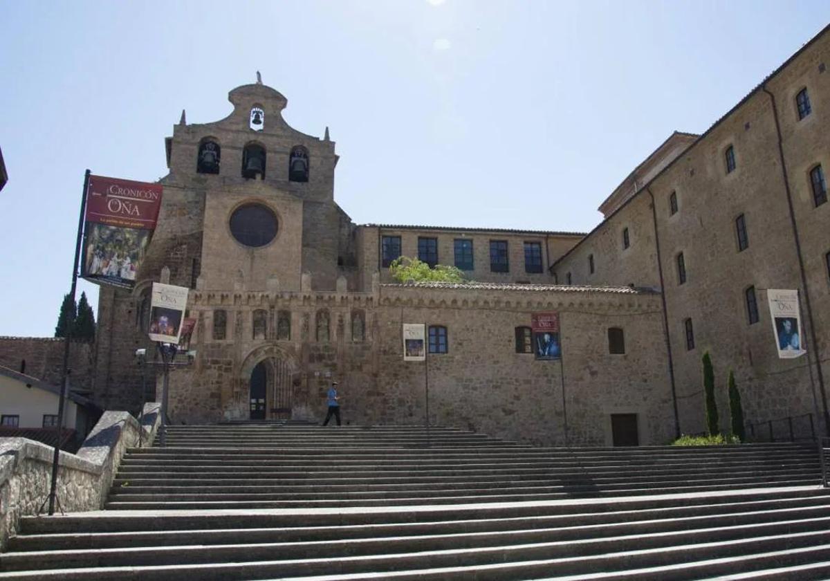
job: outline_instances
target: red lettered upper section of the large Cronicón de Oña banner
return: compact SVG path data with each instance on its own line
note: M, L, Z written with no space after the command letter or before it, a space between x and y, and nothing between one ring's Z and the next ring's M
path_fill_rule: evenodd
M108 226L154 230L161 193L159 183L90 175L85 219Z

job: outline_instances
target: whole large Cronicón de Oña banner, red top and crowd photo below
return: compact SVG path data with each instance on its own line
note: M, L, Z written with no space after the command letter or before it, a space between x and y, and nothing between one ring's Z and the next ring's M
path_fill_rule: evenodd
M133 288L161 207L159 183L90 175L81 276Z

